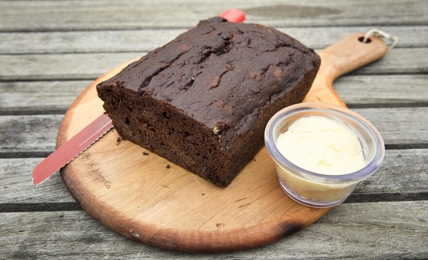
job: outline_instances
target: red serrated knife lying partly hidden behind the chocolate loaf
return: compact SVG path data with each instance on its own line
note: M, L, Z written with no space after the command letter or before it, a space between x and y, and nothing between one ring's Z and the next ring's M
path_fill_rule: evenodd
M219 17L230 22L242 22L245 20L245 13L241 10L229 9L221 13ZM33 170L34 186L47 180L52 174L69 164L96 140L107 134L112 127L113 124L107 114L92 121L36 166Z

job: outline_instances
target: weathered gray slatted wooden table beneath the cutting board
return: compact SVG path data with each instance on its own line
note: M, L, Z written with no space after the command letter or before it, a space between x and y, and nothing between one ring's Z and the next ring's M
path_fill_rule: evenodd
M93 79L225 8L316 50L372 28L399 37L382 60L335 83L387 149L345 203L278 242L196 255L112 232L74 202L59 174L33 187L32 170L54 150L65 110ZM426 0L0 0L0 258L427 259L427 72Z

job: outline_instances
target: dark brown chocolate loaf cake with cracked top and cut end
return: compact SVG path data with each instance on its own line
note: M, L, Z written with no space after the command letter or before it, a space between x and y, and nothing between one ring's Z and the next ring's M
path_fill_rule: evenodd
M227 186L263 146L270 117L303 100L320 63L275 29L214 17L97 91L123 139Z

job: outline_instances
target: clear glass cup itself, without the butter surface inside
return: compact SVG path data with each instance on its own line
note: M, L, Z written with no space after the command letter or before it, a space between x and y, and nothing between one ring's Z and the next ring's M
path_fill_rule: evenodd
M322 116L339 121L357 135L365 166L353 173L327 175L307 171L285 158L276 146L278 136L294 121L307 116ZM275 161L281 187L293 200L314 208L342 203L357 184L377 171L385 156L385 145L379 132L356 112L328 103L301 103L276 113L265 129L267 151Z

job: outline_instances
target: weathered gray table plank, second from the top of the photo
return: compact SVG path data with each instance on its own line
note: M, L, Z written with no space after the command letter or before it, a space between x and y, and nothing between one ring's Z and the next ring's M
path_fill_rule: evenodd
M367 32L373 28L374 26L277 29L310 48L322 49L346 35ZM428 47L428 26L380 26L378 29L397 35L397 48ZM147 29L1 33L0 53L148 52L185 31L186 29Z

